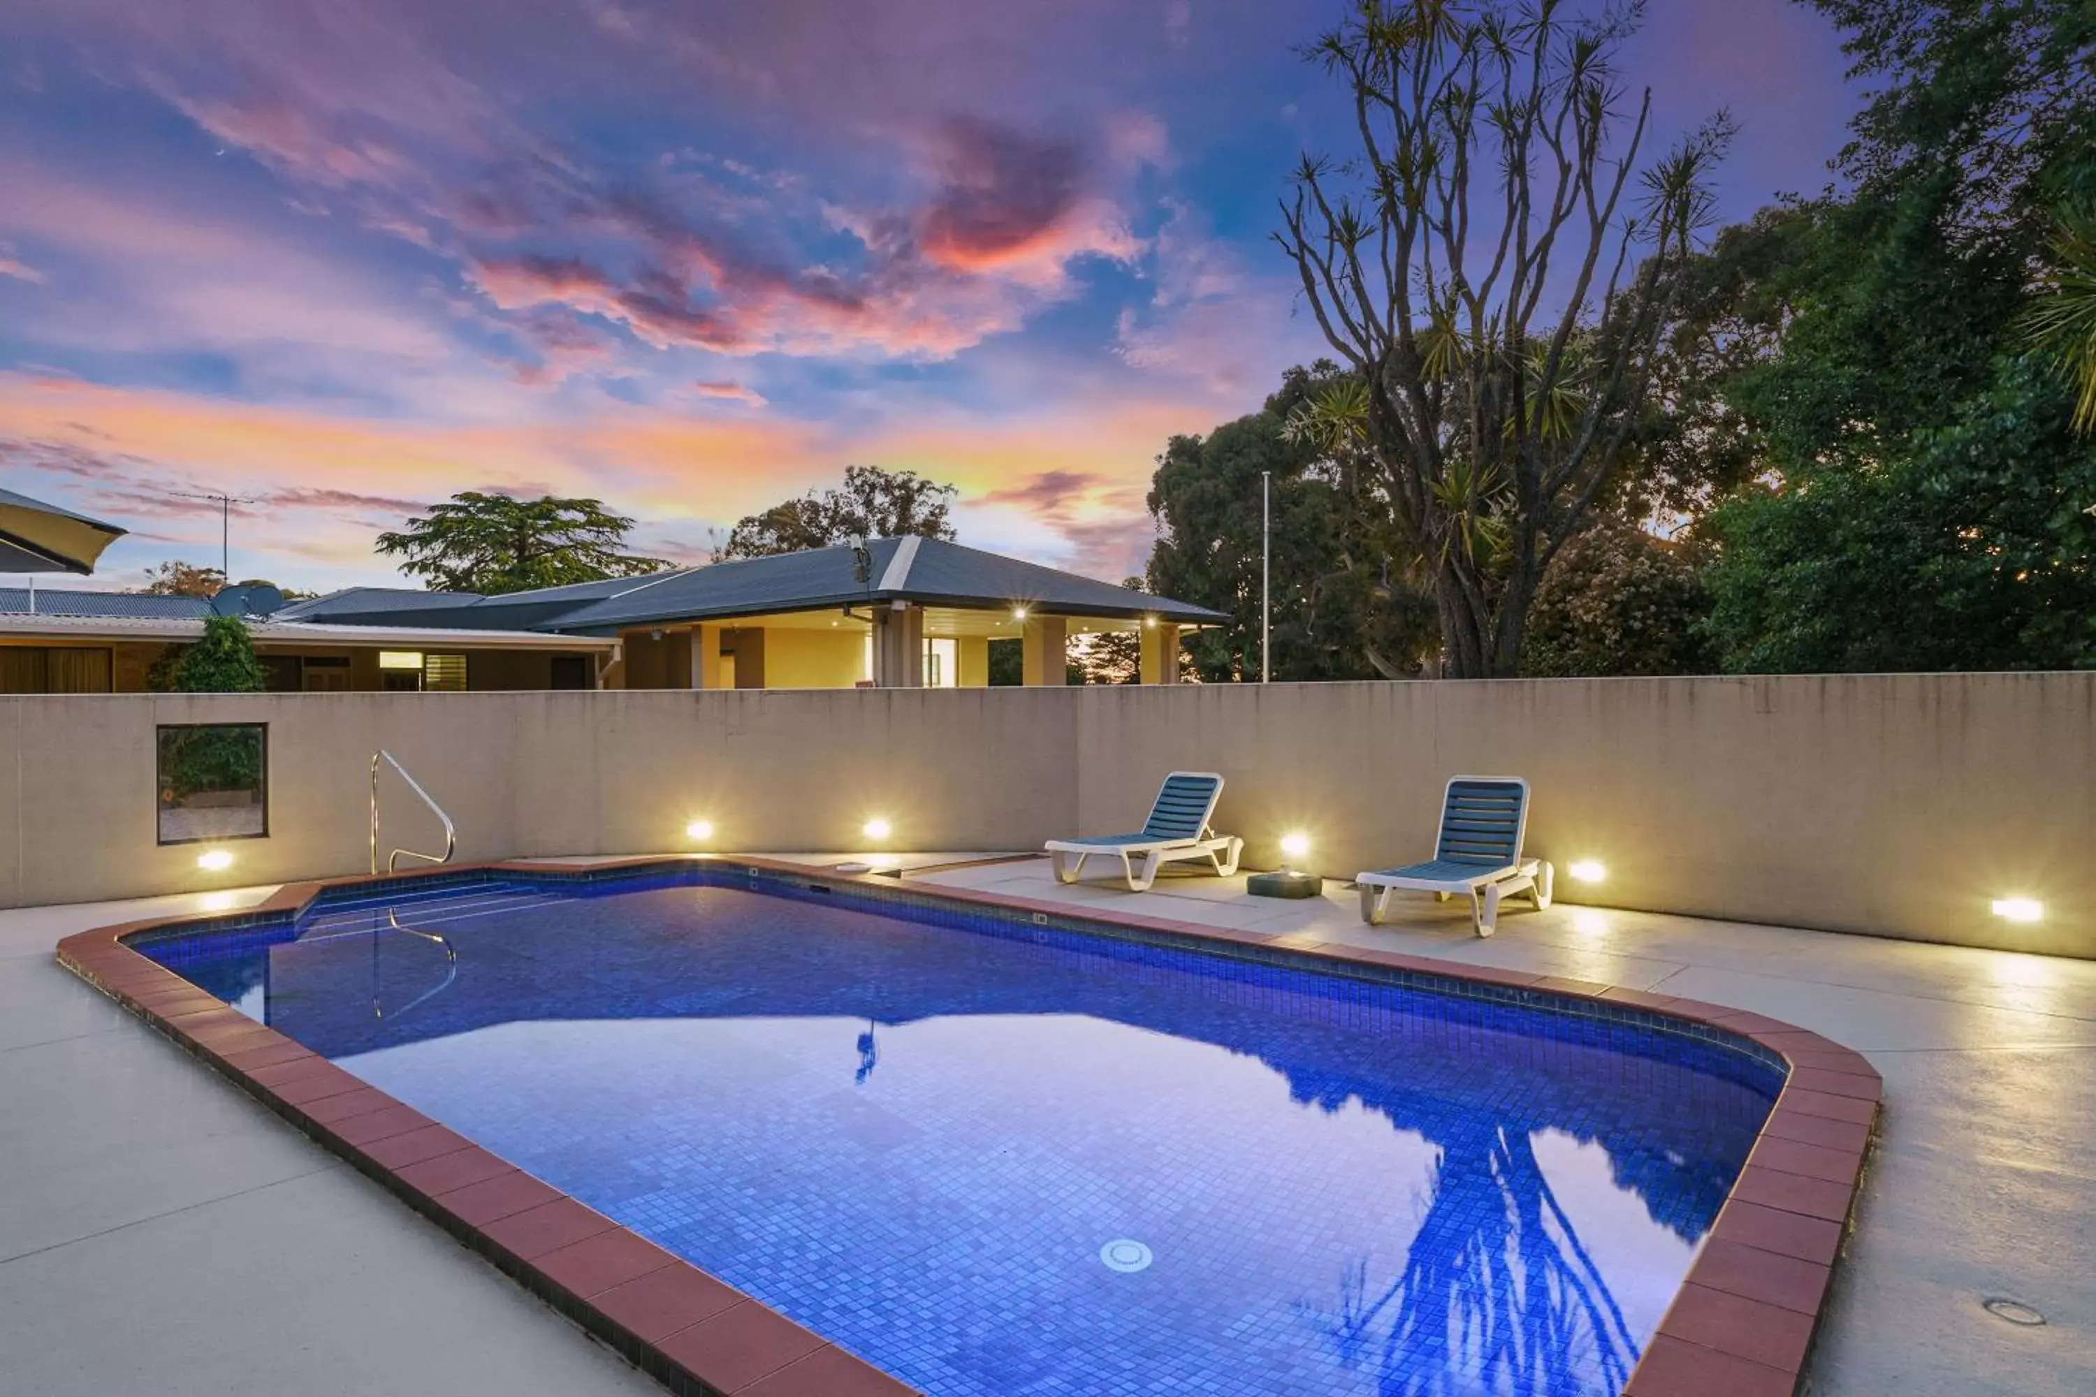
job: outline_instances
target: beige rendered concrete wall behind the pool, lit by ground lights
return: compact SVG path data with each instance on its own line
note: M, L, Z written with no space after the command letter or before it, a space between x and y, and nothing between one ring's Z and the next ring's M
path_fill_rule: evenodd
M153 733L220 720L270 727L270 838L212 875L155 844ZM1348 878L1425 857L1450 775L1524 775L1566 901L2096 957L2096 674L4 697L0 905L361 871L381 746L461 859L675 850L692 819L853 848L876 815L897 848L1029 848L1134 827L1197 769L1247 863L1302 829ZM432 846L386 792L388 844Z

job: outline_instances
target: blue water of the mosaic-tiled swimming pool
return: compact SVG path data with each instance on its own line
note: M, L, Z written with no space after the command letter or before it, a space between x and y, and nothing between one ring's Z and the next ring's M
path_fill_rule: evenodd
M1650 1024L725 873L138 949L937 1397L1614 1397L1780 1087Z

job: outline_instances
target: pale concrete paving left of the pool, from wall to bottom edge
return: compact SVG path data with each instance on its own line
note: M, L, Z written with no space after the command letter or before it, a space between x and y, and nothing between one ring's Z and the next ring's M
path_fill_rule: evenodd
M0 1393L660 1395L52 959L266 892L0 911Z

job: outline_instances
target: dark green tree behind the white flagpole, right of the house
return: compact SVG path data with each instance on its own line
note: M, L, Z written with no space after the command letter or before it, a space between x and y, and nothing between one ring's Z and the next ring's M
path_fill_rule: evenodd
M1291 369L1260 413L1205 438L1176 436L1157 459L1149 591L1230 614L1186 643L1207 683L1260 677L1262 471L1272 478L1274 679L1404 679L1434 647L1432 603L1409 580L1417 553L1375 478L1287 431L1295 408L1344 377L1329 360Z

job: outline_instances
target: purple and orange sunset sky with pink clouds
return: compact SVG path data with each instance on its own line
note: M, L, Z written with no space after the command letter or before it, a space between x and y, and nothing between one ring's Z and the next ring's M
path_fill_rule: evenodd
M847 463L962 542L1117 580L1153 459L1320 352L1268 241L1339 92L1325 0L8 0L0 484L161 559L331 589L455 490L635 547ZM1658 134L1744 124L1727 216L1855 94L1788 0L1666 0Z

